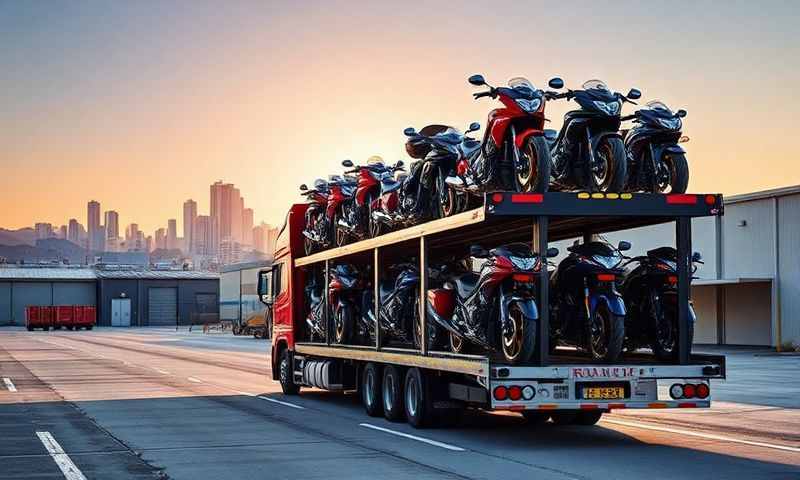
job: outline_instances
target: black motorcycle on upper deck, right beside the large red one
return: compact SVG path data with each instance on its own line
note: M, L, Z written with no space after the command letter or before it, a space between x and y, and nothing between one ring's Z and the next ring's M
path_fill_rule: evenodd
M581 107L564 115L556 133L546 130L553 165L553 187L558 190L620 192L625 186L627 155L619 133L623 103L641 98L632 88L627 95L612 92L600 80L589 80L581 90L545 92L548 100L574 99Z

